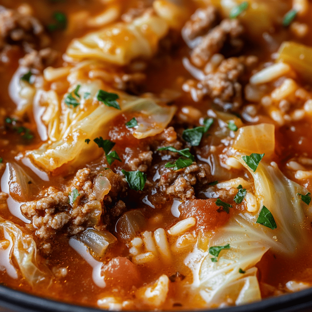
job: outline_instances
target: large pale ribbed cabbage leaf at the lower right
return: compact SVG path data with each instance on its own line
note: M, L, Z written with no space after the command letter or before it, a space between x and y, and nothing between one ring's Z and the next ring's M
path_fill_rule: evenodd
M306 189L286 178L275 163L261 161L254 173L241 156L235 153L235 158L254 178L258 210L235 216L209 240L207 250L211 246L230 245L220 252L216 262L206 251L199 272L195 273L194 286L209 306L219 305L227 298L236 305L260 300L255 265L263 254L271 248L276 253L291 255L298 252L298 246L305 248L309 244L305 229L311 216L307 205L296 196ZM256 223L263 206L272 213L276 229ZM242 274L240 269L246 272Z

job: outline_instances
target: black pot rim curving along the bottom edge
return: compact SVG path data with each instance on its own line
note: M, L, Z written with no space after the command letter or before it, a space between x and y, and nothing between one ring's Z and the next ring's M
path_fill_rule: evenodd
M0 285L0 307L18 312L99 312L107 311L46 299ZM227 307L209 312L290 312L312 307L312 288L272 297L248 305ZM187 312L187 311L185 311Z

